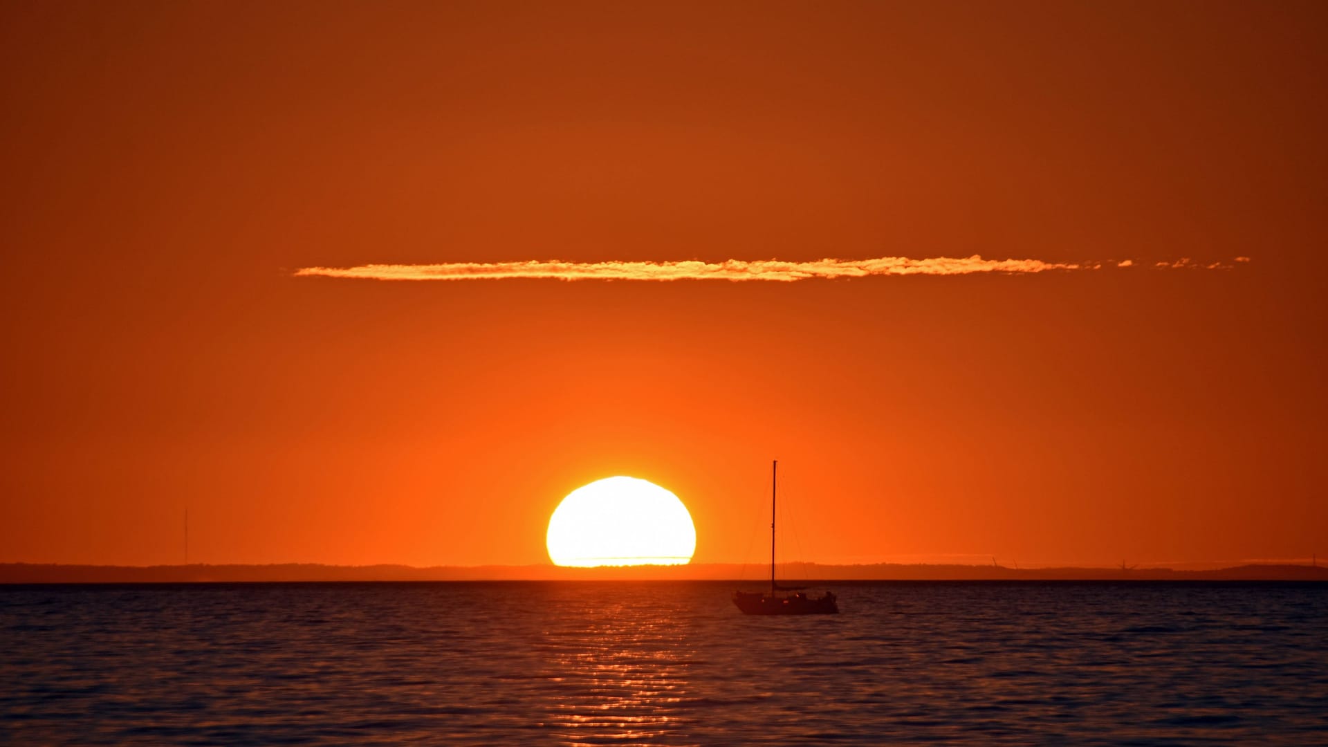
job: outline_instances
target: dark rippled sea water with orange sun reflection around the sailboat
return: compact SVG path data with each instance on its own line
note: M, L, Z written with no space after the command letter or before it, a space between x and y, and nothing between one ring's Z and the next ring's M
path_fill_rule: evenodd
M1328 744L1328 587L0 587L4 744Z

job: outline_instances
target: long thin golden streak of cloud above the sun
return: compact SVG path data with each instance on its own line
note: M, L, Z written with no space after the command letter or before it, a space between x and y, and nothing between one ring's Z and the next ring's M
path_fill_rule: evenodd
M1238 257L1238 262L1248 262ZM1130 267L1134 262L1042 262L1041 259L983 259L979 255L878 257L875 259L817 259L814 262L780 262L777 259L728 259L724 262L448 262L440 265L360 265L357 267L301 267L297 276L353 278L363 280L776 280L794 282L814 278L866 278L871 275L972 275L996 272L1024 275L1048 271L1101 270ZM1157 267L1227 270L1231 265L1193 263L1190 259L1158 262Z

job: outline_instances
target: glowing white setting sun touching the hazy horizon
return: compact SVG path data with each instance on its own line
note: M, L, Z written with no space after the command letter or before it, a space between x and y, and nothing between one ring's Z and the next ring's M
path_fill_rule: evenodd
M554 565L685 565L696 526L669 490L636 477L606 477L576 488L548 517Z

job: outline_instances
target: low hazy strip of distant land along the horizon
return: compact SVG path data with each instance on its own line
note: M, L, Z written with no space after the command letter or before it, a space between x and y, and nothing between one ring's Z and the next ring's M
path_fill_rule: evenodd
M0 564L0 584L179 584L282 581L761 581L757 566L558 568L554 565L57 565ZM1167 568L1005 568L999 565L781 564L780 578L817 581L1328 581L1328 568L1242 565Z

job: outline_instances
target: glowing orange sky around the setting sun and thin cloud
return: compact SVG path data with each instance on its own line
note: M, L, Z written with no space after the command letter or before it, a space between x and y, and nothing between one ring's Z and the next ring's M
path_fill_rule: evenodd
M790 560L1328 554L1325 70L1323 3L5 3L0 561L547 562L631 475L760 562L774 457ZM293 275L975 254L1112 266Z

